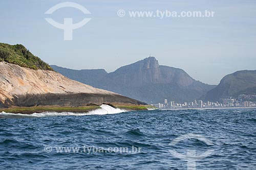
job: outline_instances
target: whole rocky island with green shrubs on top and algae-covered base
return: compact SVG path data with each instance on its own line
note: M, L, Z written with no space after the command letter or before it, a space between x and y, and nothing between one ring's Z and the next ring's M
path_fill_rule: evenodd
M0 112L84 112L102 104L146 109L143 102L94 88L54 71L23 45L0 43Z

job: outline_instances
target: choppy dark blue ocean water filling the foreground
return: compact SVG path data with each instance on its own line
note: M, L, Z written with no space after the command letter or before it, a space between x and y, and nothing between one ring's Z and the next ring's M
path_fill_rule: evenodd
M120 112L0 113L0 169L256 169L256 110Z

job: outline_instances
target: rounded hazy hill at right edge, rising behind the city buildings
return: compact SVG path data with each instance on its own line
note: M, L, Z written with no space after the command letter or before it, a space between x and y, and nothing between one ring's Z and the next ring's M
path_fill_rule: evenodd
M256 70L242 70L225 76L217 87L205 94L204 98L209 101L218 101L228 96L236 97L239 94L255 93Z

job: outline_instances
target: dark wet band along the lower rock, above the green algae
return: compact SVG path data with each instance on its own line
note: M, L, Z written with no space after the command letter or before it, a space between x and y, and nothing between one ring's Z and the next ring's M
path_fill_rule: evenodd
M118 94L90 94L90 93L69 93L69 94L24 94L15 95L12 99L8 99L5 103L0 102L0 108L17 107L33 107L33 106L86 106L86 105L102 105L114 103L126 103L131 105L146 105L146 103L127 98Z

